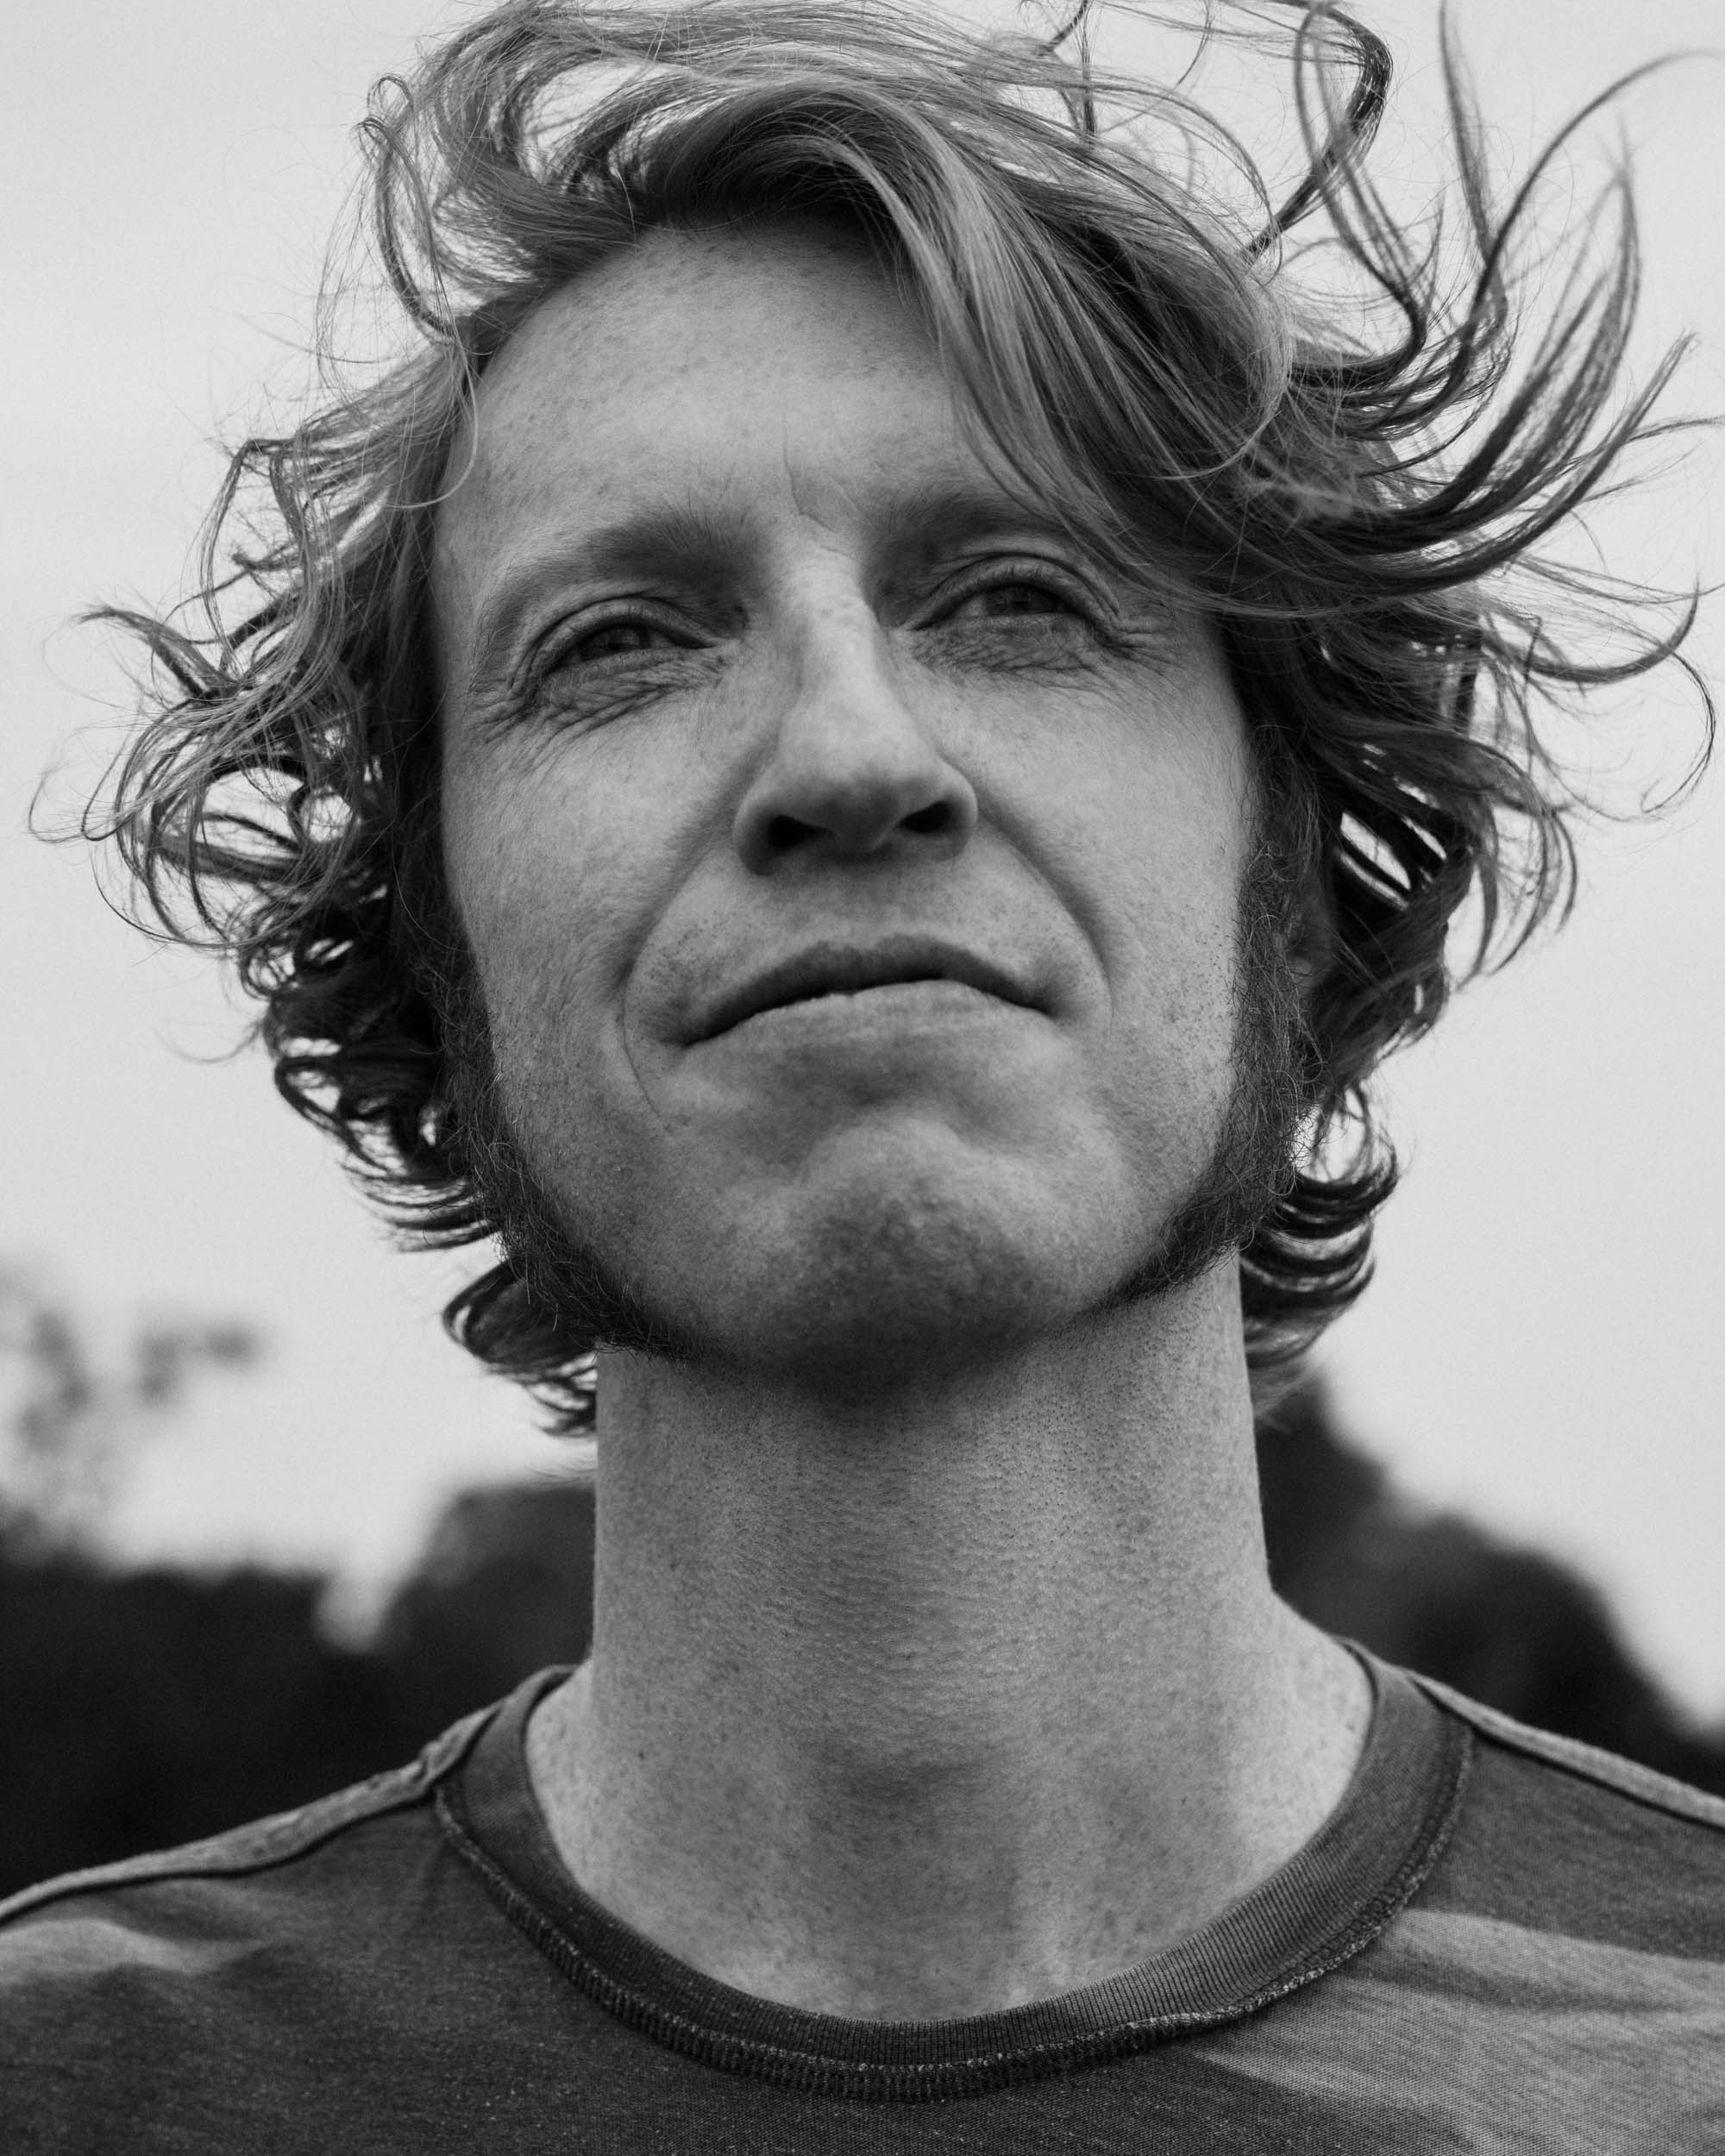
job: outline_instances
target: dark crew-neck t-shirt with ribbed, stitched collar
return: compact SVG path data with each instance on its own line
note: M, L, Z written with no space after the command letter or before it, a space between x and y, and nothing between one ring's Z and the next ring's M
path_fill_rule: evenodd
M412 1766L0 1910L0 2145L203 2156L1725 2150L1725 1805L1369 1664L1322 1830L1000 2014L714 1984L563 1869L558 1671Z

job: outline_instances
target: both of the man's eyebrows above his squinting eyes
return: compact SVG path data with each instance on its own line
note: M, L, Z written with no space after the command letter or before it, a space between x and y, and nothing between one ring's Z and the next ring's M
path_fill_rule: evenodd
M1003 487L916 481L884 505L873 554L916 571L985 533L1007 528L1067 537L1054 517ZM735 569L748 537L746 517L712 515L688 502L656 502L565 545L511 563L479 604L466 666L468 692L489 679L513 645L522 617L561 584L602 576L716 582Z

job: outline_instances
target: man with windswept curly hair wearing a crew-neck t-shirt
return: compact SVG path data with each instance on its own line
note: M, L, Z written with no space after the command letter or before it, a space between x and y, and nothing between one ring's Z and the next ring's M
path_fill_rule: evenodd
M502 1240L453 1322L597 1421L595 1649L13 1902L11 2145L1719 2143L1725 1809L1264 1567L1365 1080L1563 890L1587 668L1499 571L1645 418L1628 257L1492 401L1477 168L1445 313L1305 34L1281 209L882 6L507 6L375 110L423 349L242 453L116 830Z

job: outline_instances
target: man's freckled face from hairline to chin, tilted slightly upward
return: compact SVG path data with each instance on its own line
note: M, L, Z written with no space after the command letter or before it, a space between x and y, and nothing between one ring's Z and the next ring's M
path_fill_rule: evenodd
M662 1328L914 1371L1154 1270L1233 1091L1208 632L966 444L822 231L653 235L487 373L444 845L511 1141Z

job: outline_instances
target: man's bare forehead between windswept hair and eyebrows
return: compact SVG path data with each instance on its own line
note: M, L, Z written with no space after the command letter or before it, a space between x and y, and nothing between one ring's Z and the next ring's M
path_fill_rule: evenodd
M567 578L737 563L796 517L903 567L1052 530L972 446L873 265L819 235L772 241L643 246L535 310L451 457L444 584L496 617L505 584L530 602Z

